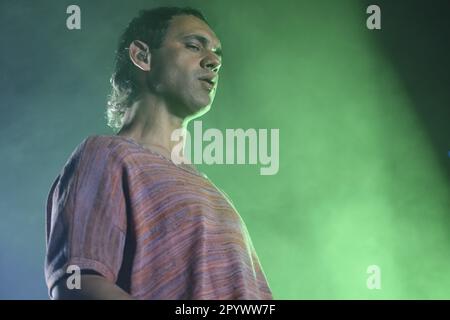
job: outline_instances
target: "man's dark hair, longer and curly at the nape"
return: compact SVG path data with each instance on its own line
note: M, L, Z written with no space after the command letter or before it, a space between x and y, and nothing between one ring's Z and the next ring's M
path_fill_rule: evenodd
M207 23L199 10L189 7L159 7L141 10L120 36L110 79L112 90L106 108L108 126L114 131L122 128L125 112L139 94L132 72L134 66L128 54L129 45L134 40L140 40L150 49L158 49L164 40L170 20L179 15L193 15Z

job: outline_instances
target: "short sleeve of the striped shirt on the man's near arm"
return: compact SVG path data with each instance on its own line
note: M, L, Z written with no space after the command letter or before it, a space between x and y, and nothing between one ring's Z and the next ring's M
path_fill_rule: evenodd
M117 281L126 236L123 171L105 141L91 137L77 147L54 181L46 221L49 292L71 265Z

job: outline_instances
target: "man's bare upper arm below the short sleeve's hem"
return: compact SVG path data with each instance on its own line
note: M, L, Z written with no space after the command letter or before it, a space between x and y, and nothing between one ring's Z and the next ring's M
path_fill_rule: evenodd
M96 274L81 275L81 289L68 289L66 278L52 288L53 300L133 300L120 287Z

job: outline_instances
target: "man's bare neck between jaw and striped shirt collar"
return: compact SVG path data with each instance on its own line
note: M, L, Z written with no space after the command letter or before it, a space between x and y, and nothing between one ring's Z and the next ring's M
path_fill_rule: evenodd
M119 136L131 138L143 147L158 149L169 158L176 145L182 143L182 152L176 156L184 156L184 134L172 141L174 130L186 130L187 120L179 118L169 112L164 101L156 96L146 93L140 97L126 111L124 125L117 133Z

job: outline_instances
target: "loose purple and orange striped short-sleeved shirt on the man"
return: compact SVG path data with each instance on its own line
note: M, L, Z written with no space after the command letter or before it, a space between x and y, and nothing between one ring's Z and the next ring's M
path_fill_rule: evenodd
M231 201L192 166L121 136L90 136L47 201L49 290L68 267L137 299L272 299Z

